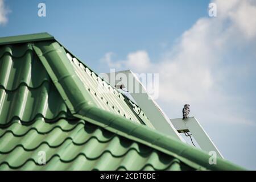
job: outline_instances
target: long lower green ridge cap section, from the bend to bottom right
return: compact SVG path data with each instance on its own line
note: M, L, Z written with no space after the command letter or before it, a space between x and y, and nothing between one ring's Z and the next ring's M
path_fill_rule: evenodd
M74 116L92 122L94 125L104 127L106 130L117 133L122 137L129 138L155 148L165 154L174 156L185 164L197 169L201 169L200 166L203 166L206 169L212 170L245 170L236 164L218 157L217 164L211 165L209 164L210 156L204 151L182 143L171 136L159 133L147 126L130 122L129 119L122 118L119 115L94 106L86 106L82 108L79 113L74 114Z

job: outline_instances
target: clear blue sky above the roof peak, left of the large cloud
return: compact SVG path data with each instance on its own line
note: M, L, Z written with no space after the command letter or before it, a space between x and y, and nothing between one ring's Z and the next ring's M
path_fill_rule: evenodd
M47 5L46 18L37 16L40 2ZM150 56L159 57L162 44L171 45L181 32L208 14L207 1L10 0L6 6L12 13L1 27L1 36L47 31L92 67L109 51L123 58L127 52L147 49ZM187 11L189 17L184 14Z

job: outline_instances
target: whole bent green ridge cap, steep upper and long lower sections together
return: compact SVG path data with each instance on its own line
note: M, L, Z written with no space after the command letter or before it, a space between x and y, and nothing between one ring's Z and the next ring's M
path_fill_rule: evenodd
M81 92L82 84L73 69L68 67L69 60L64 56L65 54L63 55L61 44L54 43L40 42L36 43L33 48L75 117L85 119L85 121L104 127L106 130L117 133L122 137L175 156L185 164L197 169L201 169L201 166L203 166L206 169L213 170L243 170L243 168L220 158L217 158L216 165L210 165L208 162L209 155L205 152L172 139L170 136L159 133L147 126L139 125L129 119L95 107L90 99L88 100L90 98L89 94ZM65 59L67 61L63 61ZM71 96L73 102L69 98Z

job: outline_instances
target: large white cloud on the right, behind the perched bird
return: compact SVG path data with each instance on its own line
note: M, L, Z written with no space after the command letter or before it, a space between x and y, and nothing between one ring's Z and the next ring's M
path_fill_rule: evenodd
M160 102L169 108L179 108L172 110L174 115L188 102L195 110L208 110L200 113L202 117L205 115L204 119L211 115L215 121L255 125L255 121L246 118L244 111L248 106L228 94L222 85L236 81L229 78L236 78L242 70L250 72L247 56L256 59L256 3L250 0L213 2L217 5L217 17L197 20L161 60L152 62L146 51L137 51L122 61L108 57L106 63L110 63L110 68L118 65L119 69L139 73L158 72ZM243 60L234 56L233 51L248 46L252 51L247 50ZM246 77L246 74L240 76Z

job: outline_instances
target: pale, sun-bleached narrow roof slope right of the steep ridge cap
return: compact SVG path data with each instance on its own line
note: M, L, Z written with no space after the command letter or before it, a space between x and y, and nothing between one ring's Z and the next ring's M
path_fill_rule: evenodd
M144 115L143 112L139 113L138 106L135 106L135 104L132 105L131 101L126 102L127 98L123 97L122 93L102 80L96 73L90 71L90 69L85 67L76 57L72 57L69 53L67 53L67 57L73 65L77 76L84 84L85 89L92 95L94 103L96 103L99 108L122 115L137 123L141 123L141 119L148 127L154 128L148 121L146 115ZM142 114L142 117L138 114Z

